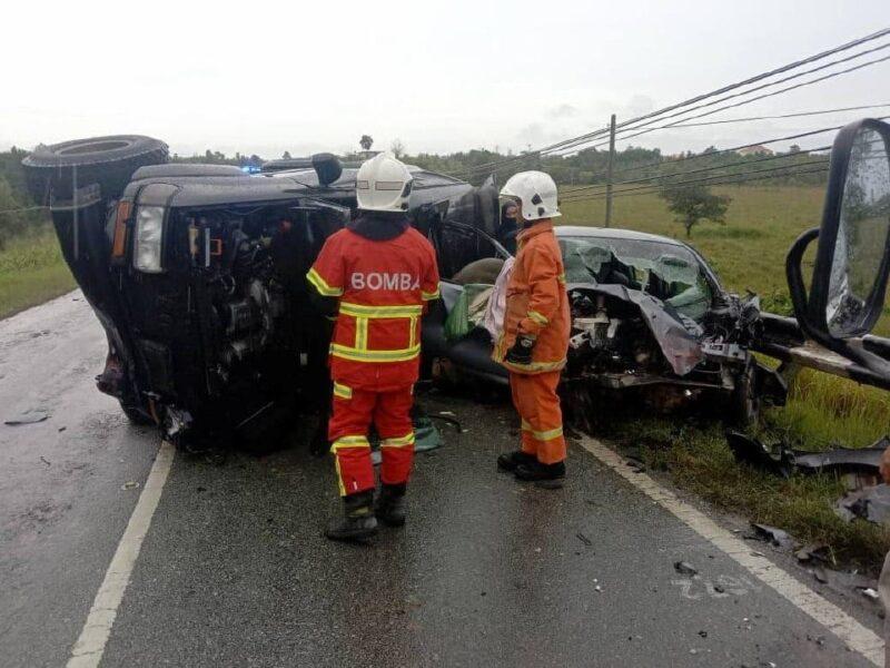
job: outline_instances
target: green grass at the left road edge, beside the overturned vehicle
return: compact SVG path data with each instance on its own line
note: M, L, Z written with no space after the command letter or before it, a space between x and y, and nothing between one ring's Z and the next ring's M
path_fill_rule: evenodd
M51 230L12 239L0 250L0 318L76 286Z

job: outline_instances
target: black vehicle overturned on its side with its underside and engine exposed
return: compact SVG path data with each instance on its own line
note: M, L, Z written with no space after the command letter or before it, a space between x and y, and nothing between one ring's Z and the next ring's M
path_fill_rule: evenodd
M99 390L177 444L263 446L325 411L328 325L305 275L355 210L357 169L329 154L259 174L167 158L162 141L115 136L23 166L108 336ZM468 184L409 169L418 224L467 206Z

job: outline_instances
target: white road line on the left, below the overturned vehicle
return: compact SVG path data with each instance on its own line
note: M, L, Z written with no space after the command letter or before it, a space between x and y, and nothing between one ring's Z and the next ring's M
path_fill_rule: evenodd
M111 635L111 627L118 613L123 592L130 582L130 574L139 558L142 541L151 525L151 518L158 508L164 483L174 463L174 446L162 441L148 480L139 494L139 501L130 515L127 529L118 543L118 549L111 558L111 563L105 573L102 586L92 601L92 608L87 617L87 622L80 631L75 646L71 648L71 658L67 668L97 668L102 660L105 646Z

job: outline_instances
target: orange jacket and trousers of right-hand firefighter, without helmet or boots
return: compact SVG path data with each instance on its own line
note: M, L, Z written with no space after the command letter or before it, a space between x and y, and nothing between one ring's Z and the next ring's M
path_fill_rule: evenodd
M565 269L552 222L526 227L518 234L517 244L507 285L504 333L493 356L511 372L513 404L522 418L522 451L535 454L542 464L553 464L565 459L556 394L571 330ZM535 340L530 364L505 358L520 334Z

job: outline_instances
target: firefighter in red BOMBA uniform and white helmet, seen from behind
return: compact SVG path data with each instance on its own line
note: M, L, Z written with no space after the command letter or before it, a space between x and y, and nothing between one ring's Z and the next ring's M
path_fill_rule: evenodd
M307 278L338 299L330 344L334 410L328 426L345 518L333 540L366 539L405 523L405 488L414 459L411 421L419 373L421 316L438 297L435 252L408 225L408 169L389 154L362 165L359 216L325 243ZM374 504L368 428L380 438L380 494Z

